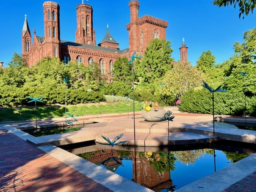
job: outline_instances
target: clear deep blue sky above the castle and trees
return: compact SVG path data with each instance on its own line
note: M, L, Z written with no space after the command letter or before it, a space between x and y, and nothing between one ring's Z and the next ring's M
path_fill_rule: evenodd
M30 32L44 36L44 0L4 0L1 2L0 61L8 66L14 52L22 53L21 30L24 15L27 14ZM76 6L82 0L55 0L60 5L60 38L75 40ZM119 48L128 48L130 22L129 0L84 0L93 8L93 28L96 30L96 44L106 34L119 42ZM140 0L139 17L148 14L168 22L166 39L174 49L174 60L180 59L179 48L182 38L188 46L188 60L192 65L204 50L211 50L216 62L228 60L234 54L234 42L243 42L243 32L256 27L256 13L239 19L239 8L214 6L212 0Z

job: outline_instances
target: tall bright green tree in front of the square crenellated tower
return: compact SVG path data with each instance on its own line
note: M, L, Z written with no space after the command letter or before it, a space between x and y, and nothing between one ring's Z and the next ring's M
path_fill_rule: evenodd
M136 60L136 76L140 82L152 83L172 68L172 48L170 41L153 39L148 44L141 61ZM138 63L138 64L137 64Z

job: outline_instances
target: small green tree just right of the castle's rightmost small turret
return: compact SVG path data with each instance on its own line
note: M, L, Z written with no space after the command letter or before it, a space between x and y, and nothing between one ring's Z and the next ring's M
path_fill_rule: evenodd
M196 61L196 68L203 72L208 72L210 68L215 65L215 56L210 50L203 51L198 60Z

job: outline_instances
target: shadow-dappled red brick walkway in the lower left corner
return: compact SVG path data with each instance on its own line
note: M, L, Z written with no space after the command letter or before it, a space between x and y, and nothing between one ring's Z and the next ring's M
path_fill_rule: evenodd
M0 192L111 192L18 136L0 129Z

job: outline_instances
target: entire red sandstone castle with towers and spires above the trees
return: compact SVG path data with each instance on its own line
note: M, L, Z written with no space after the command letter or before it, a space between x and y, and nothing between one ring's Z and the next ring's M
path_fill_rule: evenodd
M97 62L101 74L110 74L118 57L129 56L134 51L142 54L153 38L166 39L168 22L148 15L138 18L139 2L137 0L130 1L129 8L130 23L126 26L129 31L129 48L120 50L119 43L110 35L108 27L105 37L96 45L95 30L92 26L93 10L88 4L79 4L76 7L76 42L61 40L60 6L56 2L44 2L44 36L37 36L34 30L32 42L25 15L22 28L22 55L29 66L44 57L57 57L64 61L64 64L75 60L84 65ZM181 61L187 61L187 50L188 47L183 39L180 47Z

